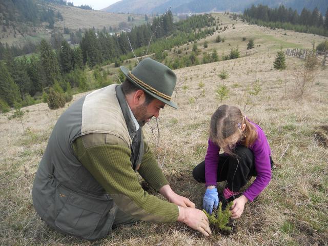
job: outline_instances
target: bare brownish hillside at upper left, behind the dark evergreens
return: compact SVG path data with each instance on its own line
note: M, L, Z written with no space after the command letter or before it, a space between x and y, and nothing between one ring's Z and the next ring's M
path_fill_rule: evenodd
M6 0L8 3L9 0ZM30 0L31 1L31 0ZM39 9L51 9L55 16L60 13L61 18L54 18L53 28L49 27L49 23L40 20L33 22L30 15L25 17L18 10L14 9L12 5L5 5L7 2L0 3L0 16L2 12L8 12L8 8L11 9L13 17L8 22L2 22L0 18L0 42L9 45L23 46L29 42L38 43L42 38L50 39L51 33L63 33L64 28L69 28L70 31L76 31L79 28L95 28L103 29L104 27L109 29L118 28L120 23L125 22L126 27L132 27L134 25L140 25L145 23L144 15L131 15L134 18L134 22L128 22L128 14L107 13L97 10L85 10L77 7L50 4L47 2L36 2L31 5L34 8ZM31 1L31 3L34 3ZM22 10L23 11L23 10ZM23 11L24 12L24 11ZM35 17L35 16L34 16Z

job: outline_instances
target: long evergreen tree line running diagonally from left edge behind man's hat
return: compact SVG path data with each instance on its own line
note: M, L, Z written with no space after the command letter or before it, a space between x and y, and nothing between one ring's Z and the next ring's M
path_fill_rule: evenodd
M138 56L160 54L165 49L213 34L212 28L201 29L202 25L214 24L213 17L208 14L193 16L182 22L173 23L169 11L155 17L152 24L134 27L130 33L110 35L106 29L104 32L89 29L80 46L74 49L64 39L56 50L42 40L38 46L39 55L32 54L29 58L14 58L10 49L6 49L3 61L0 61L0 108L1 104L10 107L15 103L23 106L33 104L33 96L49 93L50 88L57 88L57 91L61 88L63 92L73 87L80 91L89 90L85 66L93 68L113 62L119 66L123 60L134 57L131 47ZM94 76L99 80L98 86L104 86L105 75L102 78L95 73Z

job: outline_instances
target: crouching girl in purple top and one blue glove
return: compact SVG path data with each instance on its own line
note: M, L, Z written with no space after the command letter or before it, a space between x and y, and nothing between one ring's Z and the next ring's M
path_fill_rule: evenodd
M222 105L212 115L208 143L205 160L193 170L194 178L207 187L203 209L211 214L219 200L222 208L233 201L231 217L239 218L245 203L253 201L271 180L273 161L267 137L237 107ZM252 185L239 193L251 176L256 176ZM216 182L224 180L227 185L219 199Z

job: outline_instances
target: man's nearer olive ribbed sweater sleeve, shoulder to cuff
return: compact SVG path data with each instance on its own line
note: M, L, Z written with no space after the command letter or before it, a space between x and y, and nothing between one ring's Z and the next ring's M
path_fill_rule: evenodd
M131 167L128 147L104 144L85 148L80 138L73 143L74 153L120 210L144 221L177 220L179 210L175 204L149 195L141 188Z

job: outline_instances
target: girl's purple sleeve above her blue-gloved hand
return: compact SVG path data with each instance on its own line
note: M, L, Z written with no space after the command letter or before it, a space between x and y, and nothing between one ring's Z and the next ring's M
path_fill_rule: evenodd
M208 143L209 145L205 155L205 185L216 186L220 148L210 139Z

